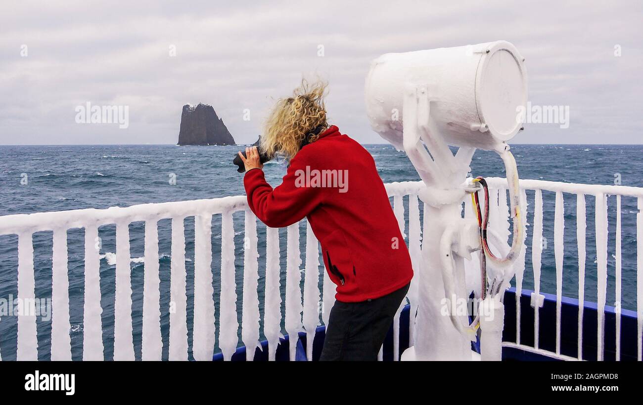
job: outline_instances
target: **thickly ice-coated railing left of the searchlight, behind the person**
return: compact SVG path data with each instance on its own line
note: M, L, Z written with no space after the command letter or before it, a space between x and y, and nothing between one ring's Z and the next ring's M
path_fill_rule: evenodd
M390 196L394 196L395 214L404 228L404 208L401 196L408 187L419 184L387 185ZM413 200L413 199L412 199ZM417 196L412 203L412 240L415 252L419 250L419 211ZM233 213L244 211L244 261L242 268L235 268L235 232ZM221 215L221 295L219 312L215 314L212 287L212 218ZM230 196L212 200L186 202L149 203L131 207L109 209L80 209L75 211L39 212L0 217L0 235L17 234L18 268L17 300L28 303L21 307L26 311L17 320L18 360L38 359L37 320L35 302L35 278L33 260L33 234L53 232L52 280L51 280L51 359L71 360L71 339L69 336L68 278L68 230L84 228L84 308L82 359L104 359L104 331L102 328L100 289L100 250L96 245L98 228L116 225L116 278L114 297L114 359L134 360L132 337L132 283L129 224L135 221L145 223L145 257L143 279L143 330L141 358L160 360L163 349L161 336L161 307L159 279L158 222L172 220L171 264L170 264L170 311L169 356L170 360L188 359L188 326L186 321L186 268L185 268L185 225L186 218L194 217L194 330L192 331L192 352L194 359L210 360L215 352L215 336L224 358L230 359L239 345L239 331L242 343L249 348L248 359L254 354L260 337L260 325L269 342L269 358L275 358L276 347L282 336L282 321L285 332L297 336L305 331L312 341L316 327L328 321L334 304L335 286L324 271L323 288L319 288L320 261L318 241L307 225L305 236L305 264L303 290L300 288L302 271L300 266L300 232L296 223L287 228L287 260L285 263L285 286L280 285L280 246L276 228L266 230L266 277L265 285L258 286L257 219L249 211L244 196ZM305 221L305 220L304 220ZM243 275L243 298L237 300L235 276ZM264 288L264 302L258 299L258 288ZM285 313L281 313L282 291L285 292ZM321 302L323 305L320 305ZM260 323L260 305L264 306L264 318ZM239 325L237 314L242 313ZM32 315L33 314L33 315ZM219 330L215 330L215 316ZM1 320L0 320L1 322ZM399 325L399 316L395 318ZM240 328L240 329L239 329ZM399 329L399 327L398 327ZM218 334L218 335L217 335ZM399 339L395 339L395 351L399 352ZM296 345L290 345L290 358L295 357ZM1 353L0 353L1 356ZM312 357L312 345L307 356ZM0 357L1 359L1 357Z

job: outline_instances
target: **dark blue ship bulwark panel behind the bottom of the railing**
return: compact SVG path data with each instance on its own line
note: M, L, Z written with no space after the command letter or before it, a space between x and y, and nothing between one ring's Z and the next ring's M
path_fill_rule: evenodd
M530 290L523 290L520 295L520 343L533 347L534 345L534 309L530 305ZM556 295L543 294L545 296L543 307L540 309L539 347L551 352L556 351ZM508 289L505 293L505 329L503 341L516 341L516 290ZM597 319L598 311L595 302L584 303L583 314L583 359L597 359ZM410 306L405 306L400 315L400 340L399 354L408 349L408 325ZM631 361L637 359L637 314L635 311L622 309L621 317L621 351L620 359ZM611 361L616 358L616 318L617 313L614 307L605 307L605 332L604 332L604 360ZM317 361L323 347L325 338L325 326L316 329L312 343L312 360ZM577 331L578 331L578 300L563 297L561 300L561 354L577 357ZM473 349L479 352L478 342L472 345ZM296 361L306 361L306 334L299 332L296 349ZM255 361L267 361L267 341L261 342L262 349L255 349ZM289 359L289 336L285 335L277 347L276 361L287 361ZM502 358L506 361L542 361L553 360L554 358L535 354L527 350L514 347L505 347L502 351ZM384 361L393 360L393 328L386 334L383 350ZM217 353L213 361L222 361L223 355ZM246 347L237 349L232 356L232 361L246 361Z

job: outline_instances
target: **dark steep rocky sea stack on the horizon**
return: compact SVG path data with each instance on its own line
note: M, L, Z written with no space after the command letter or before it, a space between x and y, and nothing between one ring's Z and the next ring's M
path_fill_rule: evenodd
M235 139L211 105L183 106L179 145L234 145Z

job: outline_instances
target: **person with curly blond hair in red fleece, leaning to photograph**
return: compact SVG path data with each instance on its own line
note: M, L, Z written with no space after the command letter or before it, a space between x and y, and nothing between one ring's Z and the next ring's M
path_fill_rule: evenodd
M267 184L257 148L246 166L248 205L269 227L309 221L337 284L321 360L377 360L413 277L411 259L375 161L358 142L327 123L325 83L280 99L260 148L284 155L287 173Z

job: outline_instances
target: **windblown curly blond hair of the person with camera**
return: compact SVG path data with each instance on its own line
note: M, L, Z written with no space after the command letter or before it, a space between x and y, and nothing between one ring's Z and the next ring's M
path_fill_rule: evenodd
M309 83L305 79L294 89L293 96L278 99L264 124L260 147L269 156L283 155L293 159L300 150L306 134L321 126L328 128L323 98L328 83L321 80ZM322 130L323 131L323 130ZM312 135L309 142L318 139Z

